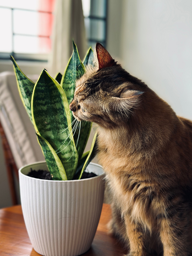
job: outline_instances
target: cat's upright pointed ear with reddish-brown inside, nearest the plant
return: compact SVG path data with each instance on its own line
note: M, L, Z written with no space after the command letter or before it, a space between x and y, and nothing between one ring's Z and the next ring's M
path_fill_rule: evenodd
M108 53L108 51L102 46L102 44L97 43L95 50L99 64L99 69L111 67L117 63Z

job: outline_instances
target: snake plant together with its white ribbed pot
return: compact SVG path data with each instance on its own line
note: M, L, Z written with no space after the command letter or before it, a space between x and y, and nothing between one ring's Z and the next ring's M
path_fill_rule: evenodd
M91 149L84 153L91 123L78 122L69 109L76 79L93 65L90 48L84 62L76 45L64 75L53 79L43 70L36 84L29 80L11 57L18 90L34 124L46 162L19 170L21 205L32 245L45 256L75 256L86 252L99 222L103 195L103 169L89 162ZM89 164L89 165L88 165ZM30 170L47 170L52 180L29 177ZM96 177L81 179L85 169Z

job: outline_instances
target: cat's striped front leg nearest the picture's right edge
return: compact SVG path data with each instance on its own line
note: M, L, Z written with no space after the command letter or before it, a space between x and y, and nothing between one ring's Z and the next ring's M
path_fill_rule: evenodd
M164 256L192 256L190 229L190 214L178 212L175 216L162 218L160 238Z

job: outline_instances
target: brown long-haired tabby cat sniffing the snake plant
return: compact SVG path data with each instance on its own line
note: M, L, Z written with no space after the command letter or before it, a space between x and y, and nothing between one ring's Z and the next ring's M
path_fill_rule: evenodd
M98 125L98 159L113 196L110 232L129 256L192 255L192 122L99 43L95 54L70 110Z

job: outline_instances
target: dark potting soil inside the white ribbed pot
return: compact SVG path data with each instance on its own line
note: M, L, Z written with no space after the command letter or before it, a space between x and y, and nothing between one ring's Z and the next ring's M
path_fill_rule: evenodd
M33 177L36 179L48 179L48 180L52 180L51 174L48 171L45 170L32 170L27 174L27 176L29 177ZM93 172L89 173L89 172L83 172L81 179L88 179L88 178L92 178L92 177L96 177L97 175Z

